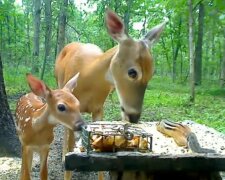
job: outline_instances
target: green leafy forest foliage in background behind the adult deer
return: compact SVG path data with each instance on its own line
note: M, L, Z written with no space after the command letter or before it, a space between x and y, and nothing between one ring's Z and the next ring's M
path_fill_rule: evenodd
M224 0L205 0L204 18L204 39L203 39L203 78L215 79L220 74L220 62L223 47L223 29L225 16ZM22 1L23 6L15 6L12 1L2 1L0 6L0 49L2 51L3 62L26 64L32 66L33 48L33 4L31 0ZM130 7L128 4L130 3ZM194 1L195 32L197 34L198 4ZM41 32L40 32L40 64L44 60L44 2L41 9ZM121 18L129 15L129 34L134 38L141 38L149 29L164 19L169 19L165 31L159 43L153 48L158 75L172 76L172 68L176 69L176 80L184 79L189 69L188 53L188 7L186 0L179 1L105 1L92 0L83 4L69 1L66 11L66 43L81 41L94 43L106 50L116 43L108 36L104 25L104 15L106 8L116 11ZM57 48L57 28L60 10L60 1L52 1L52 38L51 38L51 59L49 62L54 65ZM181 20L181 30L179 32L179 21ZM139 24L138 29L134 25ZM3 36L4 34L4 36ZM196 41L196 37L195 37ZM173 64L175 49L180 46L176 64ZM39 65L41 68L41 66Z

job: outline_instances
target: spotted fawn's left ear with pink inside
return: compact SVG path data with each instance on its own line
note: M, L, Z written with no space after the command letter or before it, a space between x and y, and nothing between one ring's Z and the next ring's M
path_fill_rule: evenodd
M31 91L35 95L46 98L50 94L51 90L45 85L43 81L29 73L26 74L26 78Z

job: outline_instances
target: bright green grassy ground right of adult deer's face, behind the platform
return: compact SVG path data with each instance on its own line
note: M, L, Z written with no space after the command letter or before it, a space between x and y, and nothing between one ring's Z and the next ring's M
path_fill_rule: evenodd
M215 83L197 88L195 104L189 103L189 88L154 78L146 91L143 118L146 120L194 120L225 133L225 90Z

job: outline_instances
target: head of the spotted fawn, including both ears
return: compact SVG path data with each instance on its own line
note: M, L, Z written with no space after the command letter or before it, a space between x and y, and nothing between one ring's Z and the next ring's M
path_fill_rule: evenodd
M71 78L62 89L51 90L43 81L27 74L27 81L32 92L47 104L48 121L59 123L72 130L80 130L84 121L80 114L80 103L71 93L76 87L79 74Z

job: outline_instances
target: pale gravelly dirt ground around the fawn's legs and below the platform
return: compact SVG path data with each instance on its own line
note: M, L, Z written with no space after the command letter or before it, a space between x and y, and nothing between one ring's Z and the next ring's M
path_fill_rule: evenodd
M49 180L62 180L63 179L63 164L62 164L62 139L63 127L58 126L55 128L55 140L51 146L48 171ZM0 154L0 180L18 180L20 176L21 158L1 157ZM39 180L39 156L34 154L32 180ZM107 178L105 173L105 178ZM96 172L73 172L73 178L76 180L97 180Z

